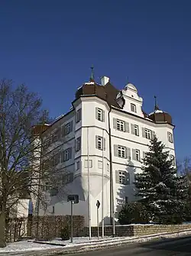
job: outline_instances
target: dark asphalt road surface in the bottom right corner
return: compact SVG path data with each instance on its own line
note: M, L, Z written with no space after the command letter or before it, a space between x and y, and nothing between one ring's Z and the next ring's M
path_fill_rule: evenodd
M75 256L187 256L191 255L191 237L153 241L137 245L123 245L118 248L105 248L83 252ZM66 254L65 254L66 256ZM71 254L70 254L71 256Z

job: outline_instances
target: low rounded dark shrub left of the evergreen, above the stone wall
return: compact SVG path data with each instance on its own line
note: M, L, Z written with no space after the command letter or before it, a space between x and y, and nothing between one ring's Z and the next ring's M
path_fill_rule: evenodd
M147 209L140 202L126 203L118 214L118 222L125 224L146 224L149 222Z

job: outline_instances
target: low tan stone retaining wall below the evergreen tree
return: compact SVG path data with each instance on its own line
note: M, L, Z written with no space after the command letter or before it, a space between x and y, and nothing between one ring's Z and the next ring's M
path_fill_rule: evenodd
M116 236L142 236L151 235L156 233L164 232L180 232L186 229L191 229L191 224L182 225L116 225L115 235ZM105 226L105 236L112 235L112 226ZM98 228L92 227L92 237L98 235ZM102 235L102 227L99 227L99 235ZM85 227L79 236L89 236L89 228Z

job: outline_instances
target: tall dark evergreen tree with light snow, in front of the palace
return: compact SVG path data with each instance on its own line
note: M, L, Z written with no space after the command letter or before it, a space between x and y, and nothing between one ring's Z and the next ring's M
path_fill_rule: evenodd
M188 183L186 177L177 176L169 152L155 136L145 154L142 173L135 175L137 196L157 223L182 222Z

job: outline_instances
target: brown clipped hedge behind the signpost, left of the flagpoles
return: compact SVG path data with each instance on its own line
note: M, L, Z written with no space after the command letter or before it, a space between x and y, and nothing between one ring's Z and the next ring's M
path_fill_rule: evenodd
M61 228L70 226L70 215L53 216L31 216L28 219L28 236L32 238L51 239L59 238ZM73 216L73 236L79 236L83 230L84 217L80 215Z

